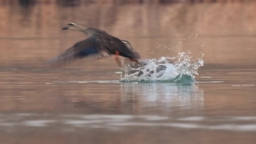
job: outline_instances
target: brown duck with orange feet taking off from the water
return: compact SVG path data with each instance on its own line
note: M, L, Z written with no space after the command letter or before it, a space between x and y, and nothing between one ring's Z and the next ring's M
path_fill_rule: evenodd
M87 28L76 22L69 22L62 30L76 30L83 32L88 38L75 43L57 57L49 61L55 66L67 65L74 60L93 60L115 55L115 61L120 66L119 56L128 58L129 61L138 63L140 54L128 48L126 41L114 37L106 31L97 28Z

